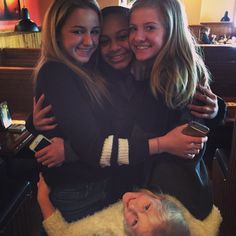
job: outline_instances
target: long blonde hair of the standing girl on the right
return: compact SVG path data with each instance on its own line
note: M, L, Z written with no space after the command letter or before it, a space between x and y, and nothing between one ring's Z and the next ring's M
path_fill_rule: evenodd
M151 70L151 90L155 97L163 94L168 107L184 107L193 98L197 84L209 84L210 74L188 28L183 6L179 0L137 0L131 14L142 7L159 9L166 28L166 43Z

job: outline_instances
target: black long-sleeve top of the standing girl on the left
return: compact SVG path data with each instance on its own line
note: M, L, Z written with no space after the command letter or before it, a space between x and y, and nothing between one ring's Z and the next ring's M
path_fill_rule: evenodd
M81 157L78 162L58 168L44 168L49 184L86 182L106 176L106 169L97 168L96 163L99 163L104 139L110 132L109 103L104 102L104 107L94 104L78 75L55 61L47 62L39 71L35 93L36 98L45 94L44 106L52 105L49 116L55 116L58 123L54 130L43 134L48 138L70 140Z

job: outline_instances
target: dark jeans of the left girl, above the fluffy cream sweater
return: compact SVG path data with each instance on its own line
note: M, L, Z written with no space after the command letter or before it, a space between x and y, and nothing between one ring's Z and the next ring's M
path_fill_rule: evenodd
M50 199L66 221L72 222L93 214L110 204L108 180L52 189Z

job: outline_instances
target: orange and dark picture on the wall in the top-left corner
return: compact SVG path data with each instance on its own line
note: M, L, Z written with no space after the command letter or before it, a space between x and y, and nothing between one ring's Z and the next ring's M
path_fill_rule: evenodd
M20 0L0 0L0 20L20 19Z

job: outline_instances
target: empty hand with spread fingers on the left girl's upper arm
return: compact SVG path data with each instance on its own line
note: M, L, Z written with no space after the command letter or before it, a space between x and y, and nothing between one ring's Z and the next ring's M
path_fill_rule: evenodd
M40 96L37 102L34 98L33 124L35 129L39 131L52 130L57 126L55 117L47 117L47 114L52 110L52 106L48 105L43 108L44 100L44 94Z

